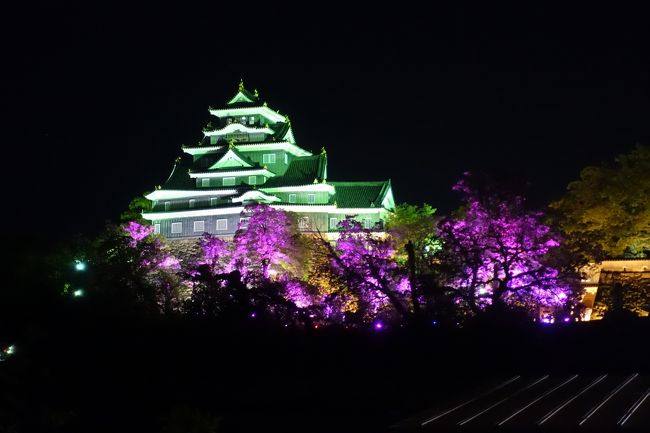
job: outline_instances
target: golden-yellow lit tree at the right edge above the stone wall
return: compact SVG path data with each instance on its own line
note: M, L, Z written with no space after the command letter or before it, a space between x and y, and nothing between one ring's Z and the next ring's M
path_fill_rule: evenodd
M551 203L567 247L586 260L650 257L650 147L590 166Z

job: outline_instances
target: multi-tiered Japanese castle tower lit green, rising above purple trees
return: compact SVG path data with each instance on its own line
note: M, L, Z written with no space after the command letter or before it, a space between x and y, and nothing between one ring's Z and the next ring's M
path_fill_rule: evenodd
M147 194L152 209L143 217L168 239L211 233L232 237L245 226L249 203L266 203L297 214L304 232L336 236L339 221L354 216L366 228L381 230L394 208L390 180L332 182L327 153L296 144L287 116L262 103L239 83L196 146L183 146L169 178Z

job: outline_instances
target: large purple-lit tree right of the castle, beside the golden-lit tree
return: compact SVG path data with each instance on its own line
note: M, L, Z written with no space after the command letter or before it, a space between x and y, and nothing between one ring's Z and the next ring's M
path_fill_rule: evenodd
M541 223L542 214L527 212L520 196L480 194L467 177L454 187L463 194L462 215L439 225L445 282L457 303L473 314L563 306L571 280L546 261L559 240Z

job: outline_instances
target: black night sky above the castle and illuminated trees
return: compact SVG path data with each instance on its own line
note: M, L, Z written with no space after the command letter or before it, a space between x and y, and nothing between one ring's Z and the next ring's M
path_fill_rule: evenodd
M441 211L466 170L514 171L542 206L650 143L643 11L240 5L6 10L3 222L99 231L163 183L240 78L300 146L326 147L331 180L391 178L397 202Z

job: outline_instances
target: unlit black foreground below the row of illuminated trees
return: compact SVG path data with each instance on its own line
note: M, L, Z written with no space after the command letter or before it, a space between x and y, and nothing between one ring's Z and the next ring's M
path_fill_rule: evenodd
M0 362L0 431L460 431L457 422L489 402L509 396L481 416L494 427L499 416L576 374L557 401L603 374L599 395L636 373L629 389L640 393L650 374L647 319L352 331L90 311L70 305L20 329L5 323L0 342L16 350ZM487 406L476 401L444 423L417 425L515 376ZM636 395L626 392L626 403L617 404ZM535 413L551 406L540 402ZM646 419L649 408L639 409ZM534 415L525 415L503 430L530 431ZM574 428L549 423L540 431Z

